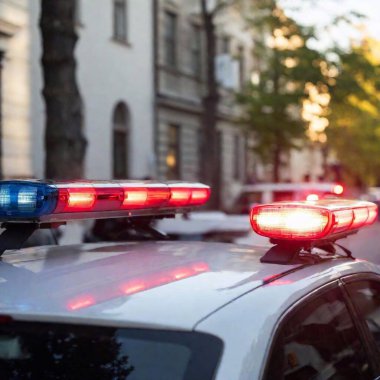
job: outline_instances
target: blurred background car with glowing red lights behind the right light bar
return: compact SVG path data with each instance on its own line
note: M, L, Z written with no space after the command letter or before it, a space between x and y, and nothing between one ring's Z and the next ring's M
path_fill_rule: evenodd
M281 201L317 201L340 197L343 194L345 194L345 189L341 184L330 182L268 182L244 185L228 212L231 214L247 214L255 204Z

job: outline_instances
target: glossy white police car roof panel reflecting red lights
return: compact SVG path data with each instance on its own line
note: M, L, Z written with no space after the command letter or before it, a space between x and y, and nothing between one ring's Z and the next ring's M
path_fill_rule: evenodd
M266 251L225 243L131 242L6 253L0 261L0 314L192 329L263 281L301 266L263 264Z

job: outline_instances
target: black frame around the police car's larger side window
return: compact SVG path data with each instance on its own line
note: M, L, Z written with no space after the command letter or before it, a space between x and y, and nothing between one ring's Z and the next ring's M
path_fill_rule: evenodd
M359 322L359 316L357 315L356 311L351 307L350 303L347 300L348 293L344 287L344 282L343 278L338 278L335 279L329 283L326 283L317 289L313 290L306 296L302 297L301 299L297 300L293 305L291 305L288 309L284 311L284 313L281 315L279 320L277 321L275 325L275 329L272 331L271 337L270 337L270 343L267 346L266 353L264 356L264 364L260 370L260 376L259 379L261 380L268 380L268 371L269 371L269 364L270 364L270 359L272 358L272 354L274 352L275 345L278 341L278 338L280 336L280 333L283 331L284 325L286 325L300 309L305 305L305 303L310 303L312 302L315 298L320 297L322 294L333 290L333 289L338 289L342 295L342 299L346 305L346 308L348 310L348 313L351 316L354 328L356 329L357 335L359 340L361 341L363 345L363 349L365 351L365 354L367 355L368 358L368 363L371 366L372 372L375 372L377 370L377 364L374 362L374 354L372 351L371 346L369 345L367 336L363 334L363 330L361 328L361 323ZM368 278L368 277L365 277ZM375 378L375 373L373 373L373 376Z

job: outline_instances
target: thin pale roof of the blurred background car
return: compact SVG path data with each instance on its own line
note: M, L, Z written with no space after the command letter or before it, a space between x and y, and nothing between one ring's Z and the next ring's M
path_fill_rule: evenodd
M299 182L299 183L257 183L242 186L242 192L253 191L302 191L302 190L319 190L332 191L336 183L329 182Z

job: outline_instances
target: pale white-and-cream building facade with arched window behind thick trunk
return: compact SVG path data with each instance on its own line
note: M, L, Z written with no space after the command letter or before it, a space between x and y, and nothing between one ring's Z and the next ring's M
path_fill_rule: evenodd
M44 176L39 0L0 0L5 177ZM155 173L151 1L77 0L87 178Z

